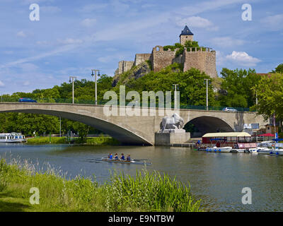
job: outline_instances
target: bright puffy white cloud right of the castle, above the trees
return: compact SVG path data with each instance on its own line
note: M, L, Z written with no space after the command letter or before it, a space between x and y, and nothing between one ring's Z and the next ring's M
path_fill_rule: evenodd
M246 52L233 51L230 55L226 56L226 59L236 62L241 66L256 66L260 62L260 59L251 57Z

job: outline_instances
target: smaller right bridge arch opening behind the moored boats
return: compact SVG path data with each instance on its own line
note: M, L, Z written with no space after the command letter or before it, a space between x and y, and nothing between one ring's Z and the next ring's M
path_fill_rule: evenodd
M190 136L201 137L205 133L216 133L216 132L233 132L233 126L224 119L212 116L200 116L190 119L184 126L186 131L190 131Z

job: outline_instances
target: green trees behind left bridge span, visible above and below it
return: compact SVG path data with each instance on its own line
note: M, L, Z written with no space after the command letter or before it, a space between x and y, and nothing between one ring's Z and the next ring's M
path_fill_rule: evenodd
M106 91L112 88L112 77L101 75L98 78L98 100L103 100ZM95 101L95 83L82 79L74 82L74 95L76 102L86 104ZM2 95L1 100L4 102L18 102L20 97L29 97L37 102L70 102L72 97L71 83L62 83L60 86L55 85L53 88L44 90L33 90L32 93L13 93L13 95ZM1 113L0 114L0 132L21 132L26 136L32 136L36 131L37 135L48 133L59 133L59 118L45 114L25 114L25 113ZM86 126L76 121L62 119L62 133L73 131L79 133L81 140L86 140L88 132L101 133L100 131Z

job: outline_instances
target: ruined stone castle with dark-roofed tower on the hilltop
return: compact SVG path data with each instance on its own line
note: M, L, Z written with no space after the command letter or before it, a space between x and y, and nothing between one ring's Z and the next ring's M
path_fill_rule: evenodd
M184 30L180 34L180 44L184 45L187 40L193 41L193 34L185 25ZM192 47L185 48L183 54L176 57L176 51L171 49L164 50L162 46L156 46L152 49L151 54L136 54L134 61L120 61L118 69L115 71L115 76L137 66L144 61L150 61L153 71L161 69L173 63L183 65L183 71L191 68L199 69L207 73L211 78L217 77L216 71L216 52L208 47Z

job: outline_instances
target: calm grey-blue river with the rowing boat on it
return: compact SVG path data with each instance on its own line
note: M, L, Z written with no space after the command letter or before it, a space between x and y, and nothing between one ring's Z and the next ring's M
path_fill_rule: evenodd
M149 171L168 173L190 182L195 198L202 198L210 211L283 211L283 157L248 153L207 153L192 148L83 145L1 144L0 156L28 160L38 169L48 162L68 178L93 174L98 182L109 179L110 171L134 175L144 165L101 162L108 153L130 154L134 159L149 159ZM242 189L252 190L252 204L243 205Z

